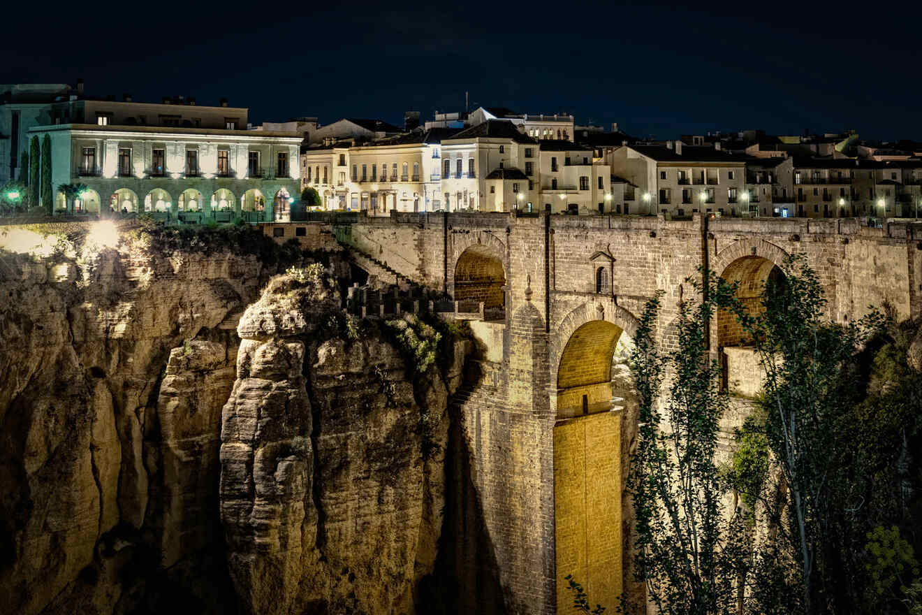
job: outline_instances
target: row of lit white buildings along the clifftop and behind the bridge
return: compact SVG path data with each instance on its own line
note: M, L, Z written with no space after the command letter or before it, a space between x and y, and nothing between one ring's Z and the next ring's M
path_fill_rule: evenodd
M146 211L195 221L287 219L303 188L327 210L695 213L916 217L922 144L857 133L759 130L656 141L572 115L478 107L403 126L316 117L247 123L247 109L92 98L82 83L0 86L0 182L21 177L32 136L51 136L60 211ZM8 160L8 164L6 161ZM220 212L224 212L223 214Z

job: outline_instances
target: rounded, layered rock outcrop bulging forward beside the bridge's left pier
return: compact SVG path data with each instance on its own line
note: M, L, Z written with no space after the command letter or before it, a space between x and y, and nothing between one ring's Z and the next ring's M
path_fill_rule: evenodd
M380 332L340 334L332 292L275 278L238 326L221 515L246 612L416 612L434 566L443 467L420 425L435 413L445 444L448 392L437 371L412 382Z

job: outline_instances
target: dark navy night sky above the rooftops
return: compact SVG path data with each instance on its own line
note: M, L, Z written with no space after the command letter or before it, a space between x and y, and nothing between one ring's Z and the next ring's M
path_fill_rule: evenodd
M35 11L7 23L0 82L83 77L89 93L136 101L227 97L254 123L315 115L402 124L409 109L424 119L463 110L467 90L472 109L571 112L635 136L854 128L922 140L918 4L191 0L98 2L74 15L80 5L68 3L53 19Z

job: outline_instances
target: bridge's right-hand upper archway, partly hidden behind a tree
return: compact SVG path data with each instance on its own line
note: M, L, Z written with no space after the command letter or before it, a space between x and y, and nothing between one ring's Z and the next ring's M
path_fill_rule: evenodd
M781 268L762 256L747 255L731 262L720 274L729 283L738 283L736 298L751 316L765 311L762 293L784 279ZM762 379L753 377L759 371L759 360L752 348L751 335L745 331L733 313L717 312L717 348L723 364L724 386L730 393L756 396Z

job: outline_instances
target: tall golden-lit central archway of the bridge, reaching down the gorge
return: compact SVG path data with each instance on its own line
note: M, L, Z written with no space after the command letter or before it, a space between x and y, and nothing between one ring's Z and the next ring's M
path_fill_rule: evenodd
M622 590L621 417L632 403L625 365L630 337L590 320L561 352L554 424L554 539L558 612L572 609L572 574L594 603L618 604Z

